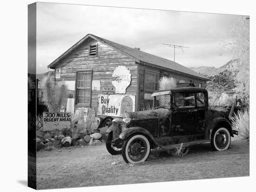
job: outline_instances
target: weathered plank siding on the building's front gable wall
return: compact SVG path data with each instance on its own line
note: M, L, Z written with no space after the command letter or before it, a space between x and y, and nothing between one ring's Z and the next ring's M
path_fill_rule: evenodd
M89 56L89 46L95 44L98 44L97 56L91 57ZM131 72L131 84L128 86L126 93L136 95L138 64L135 64L132 58L95 40L83 43L78 49L70 52L69 55L59 61L61 78L56 79L56 82L62 80L76 81L78 71L92 70L92 79L101 81L101 90L92 90L91 105L75 104L75 107L89 108L88 113L90 114L91 107L97 108L98 95L102 94L102 87L113 87L112 74L115 68L120 65L127 66ZM74 98L76 97L75 94L74 91Z

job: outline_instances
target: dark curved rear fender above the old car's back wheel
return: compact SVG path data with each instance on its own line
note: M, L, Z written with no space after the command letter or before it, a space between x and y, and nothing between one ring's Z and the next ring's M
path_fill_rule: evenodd
M224 117L217 117L217 118L214 118L211 122L209 122L208 124L208 127L207 127L207 131L206 131L206 135L205 135L205 138L206 139L211 139L211 136L213 134L213 129L218 125L218 124L223 124L225 125L228 130L229 130L229 133L230 133L230 136L233 137L233 132L232 132L232 128L231 128L231 124L229 122L229 120L227 120L226 118Z

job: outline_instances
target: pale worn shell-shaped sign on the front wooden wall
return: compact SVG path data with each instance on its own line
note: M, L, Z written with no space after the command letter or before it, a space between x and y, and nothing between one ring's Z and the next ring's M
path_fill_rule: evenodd
M131 72L126 66L118 66L113 72L112 84L116 93L126 93L126 88L131 84Z

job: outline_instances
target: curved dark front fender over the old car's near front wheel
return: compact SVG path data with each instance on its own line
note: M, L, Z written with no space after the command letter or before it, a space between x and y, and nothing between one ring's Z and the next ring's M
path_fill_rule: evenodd
M155 138L153 137L153 135L147 129L141 128L141 127L131 127L131 128L124 130L119 135L119 138L121 140L126 140L132 134L143 134L146 137L148 137L149 141L152 141L153 144L160 147L160 144L157 141L155 141Z

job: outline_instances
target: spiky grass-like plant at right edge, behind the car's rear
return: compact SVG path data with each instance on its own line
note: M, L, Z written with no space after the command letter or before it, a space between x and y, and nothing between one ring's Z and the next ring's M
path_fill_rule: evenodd
M238 111L231 118L231 121L233 129L238 131L239 139L246 140L250 138L249 109Z

